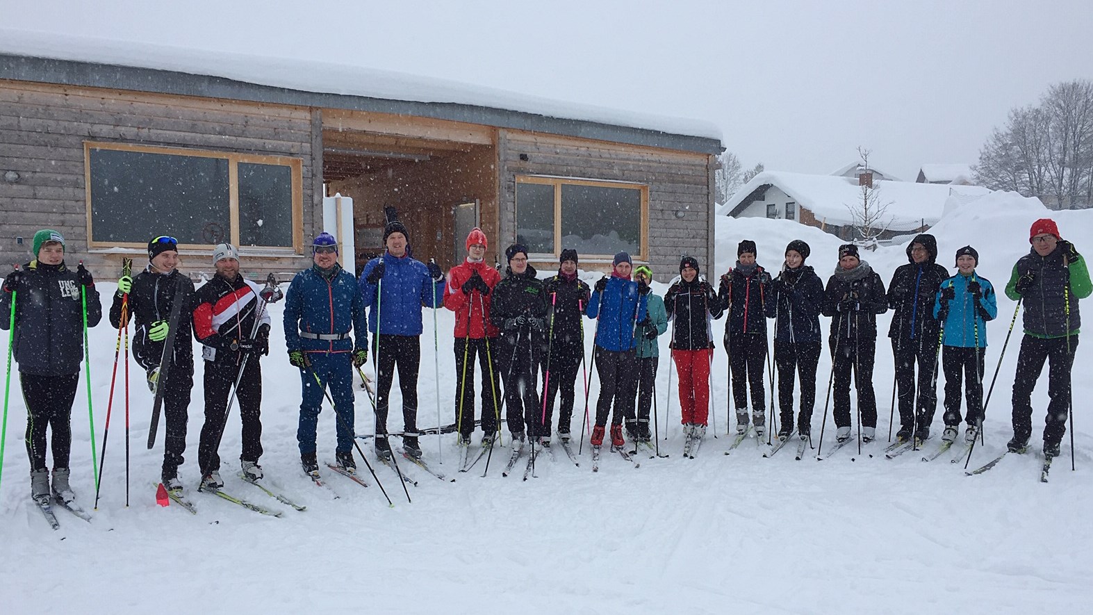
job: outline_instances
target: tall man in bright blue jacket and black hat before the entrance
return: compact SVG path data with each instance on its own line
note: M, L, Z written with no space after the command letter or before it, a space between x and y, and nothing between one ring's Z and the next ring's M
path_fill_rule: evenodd
M418 443L418 367L421 363L421 308L444 305L445 280L439 265L425 265L407 250L410 233L399 221L384 228L387 251L368 261L359 281L361 297L368 310L373 363L376 363L376 454L390 458L387 440L388 395L399 370L402 390L402 447L407 454L421 458Z

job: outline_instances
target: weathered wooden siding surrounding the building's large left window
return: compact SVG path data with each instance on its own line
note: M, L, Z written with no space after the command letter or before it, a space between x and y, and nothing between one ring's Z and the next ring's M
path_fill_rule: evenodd
M304 244L309 244L315 221L321 220L322 178L314 173L321 158L318 167L313 161L321 156L320 128L321 115L306 108L0 80L0 172L21 176L15 184L0 181L0 253L30 260L31 237L52 227L64 235L68 252L97 268L101 277L120 262L124 253L117 250L87 252L85 141L301 158ZM24 245L15 244L16 236ZM308 263L303 256L247 252L244 248L243 269L256 276ZM188 271L212 270L203 250L184 250L183 257L193 263Z

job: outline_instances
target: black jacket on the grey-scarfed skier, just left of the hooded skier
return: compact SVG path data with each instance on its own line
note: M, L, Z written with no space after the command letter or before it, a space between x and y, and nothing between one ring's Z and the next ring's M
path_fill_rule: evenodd
M877 315L888 311L884 282L869 263L861 261L858 268L866 268L857 276L847 276L836 270L827 280L824 291L823 315L832 318L828 340L839 343L856 343L859 338L877 338ZM856 279L851 279L856 277ZM841 310L843 299L854 299L850 309Z

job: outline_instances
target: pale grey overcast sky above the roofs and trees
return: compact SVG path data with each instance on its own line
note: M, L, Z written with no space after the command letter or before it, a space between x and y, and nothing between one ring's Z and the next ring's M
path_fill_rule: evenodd
M0 0L3 27L359 64L715 123L745 165L914 179L1093 79L1093 2Z

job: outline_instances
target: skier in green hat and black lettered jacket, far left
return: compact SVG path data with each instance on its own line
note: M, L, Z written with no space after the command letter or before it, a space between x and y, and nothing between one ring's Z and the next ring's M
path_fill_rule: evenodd
M31 495L50 496L46 470L46 429L52 429L52 495L66 502L75 495L69 486L72 448L72 401L83 359L83 297L87 327L98 324L103 307L91 273L64 265L64 237L51 229L34 234L35 260L13 271L0 293L0 329L8 330L15 298L12 352L26 401L26 454L31 459Z

